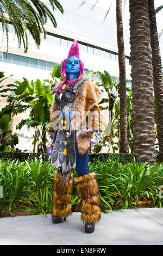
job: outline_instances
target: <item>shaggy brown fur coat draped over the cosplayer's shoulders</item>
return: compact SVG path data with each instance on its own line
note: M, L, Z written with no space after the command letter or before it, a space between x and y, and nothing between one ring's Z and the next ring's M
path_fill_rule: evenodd
M101 97L102 91L91 80L84 81L77 89L71 125L72 129L77 130L77 145L81 155L84 155L90 147L90 134L84 130L92 128L100 132L104 131L102 115L98 106ZM55 101L54 95L51 108L52 123L56 119L52 117L55 111L58 111L58 103ZM92 117L92 113L94 117Z

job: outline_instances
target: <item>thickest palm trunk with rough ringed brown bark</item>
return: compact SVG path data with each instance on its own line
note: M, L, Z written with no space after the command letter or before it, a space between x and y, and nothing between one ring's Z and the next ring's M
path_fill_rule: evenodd
M148 0L130 0L129 3L134 156L137 162L154 163L153 74Z

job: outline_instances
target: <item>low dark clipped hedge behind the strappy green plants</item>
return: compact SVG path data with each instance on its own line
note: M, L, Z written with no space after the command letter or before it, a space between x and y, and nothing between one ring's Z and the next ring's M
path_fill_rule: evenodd
M97 159L101 162L103 160L108 161L111 160L112 158L112 153L99 153L99 154L89 154L89 161L90 162L95 162ZM43 162L44 161L49 161L51 162L51 156L49 156L46 153L23 153L23 152L0 152L0 159L4 160L19 160L21 162L28 160L32 161L35 159L41 159ZM133 154L129 153L114 153L114 160L116 160L118 157L120 157L120 162L125 163L125 162L132 162L133 161ZM155 161L158 160L158 153L155 154Z

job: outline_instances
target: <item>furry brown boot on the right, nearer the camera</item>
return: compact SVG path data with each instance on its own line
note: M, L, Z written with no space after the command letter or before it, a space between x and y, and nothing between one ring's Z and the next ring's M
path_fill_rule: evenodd
M95 176L96 173L88 173L74 179L81 199L81 219L85 224L85 231L90 233L95 230L95 224L101 218L99 188Z

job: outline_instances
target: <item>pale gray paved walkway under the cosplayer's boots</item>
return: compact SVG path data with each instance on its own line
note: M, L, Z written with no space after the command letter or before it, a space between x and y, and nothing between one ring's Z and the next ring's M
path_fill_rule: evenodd
M0 245L163 245L163 208L102 213L94 233L77 212L59 224L50 214L0 218Z

